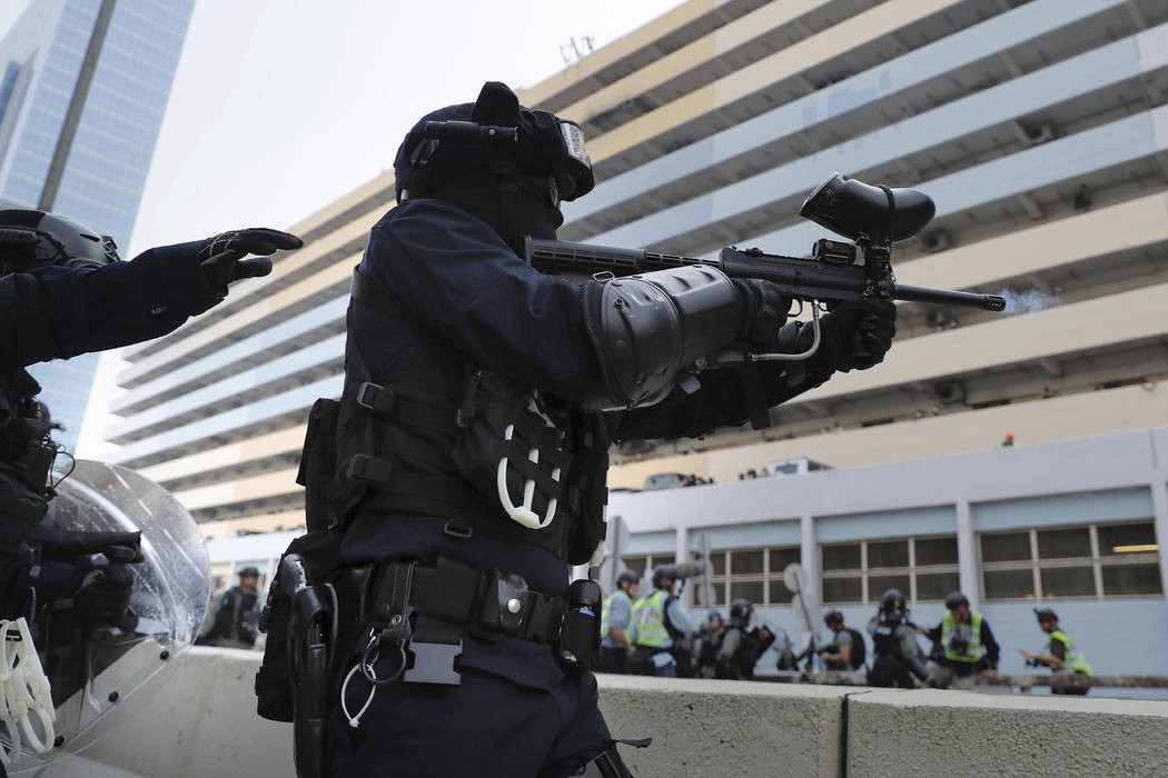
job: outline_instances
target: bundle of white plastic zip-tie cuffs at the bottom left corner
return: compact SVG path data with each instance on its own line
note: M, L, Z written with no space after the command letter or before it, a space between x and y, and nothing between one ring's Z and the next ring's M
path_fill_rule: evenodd
M12 635L14 629L18 635ZM40 733L33 726L34 715L41 722ZM14 622L0 619L0 721L9 738L9 748L0 748L0 762L11 765L20 758L22 733L23 741L37 754L53 750L56 720L49 679L33 645L28 622L23 617Z

